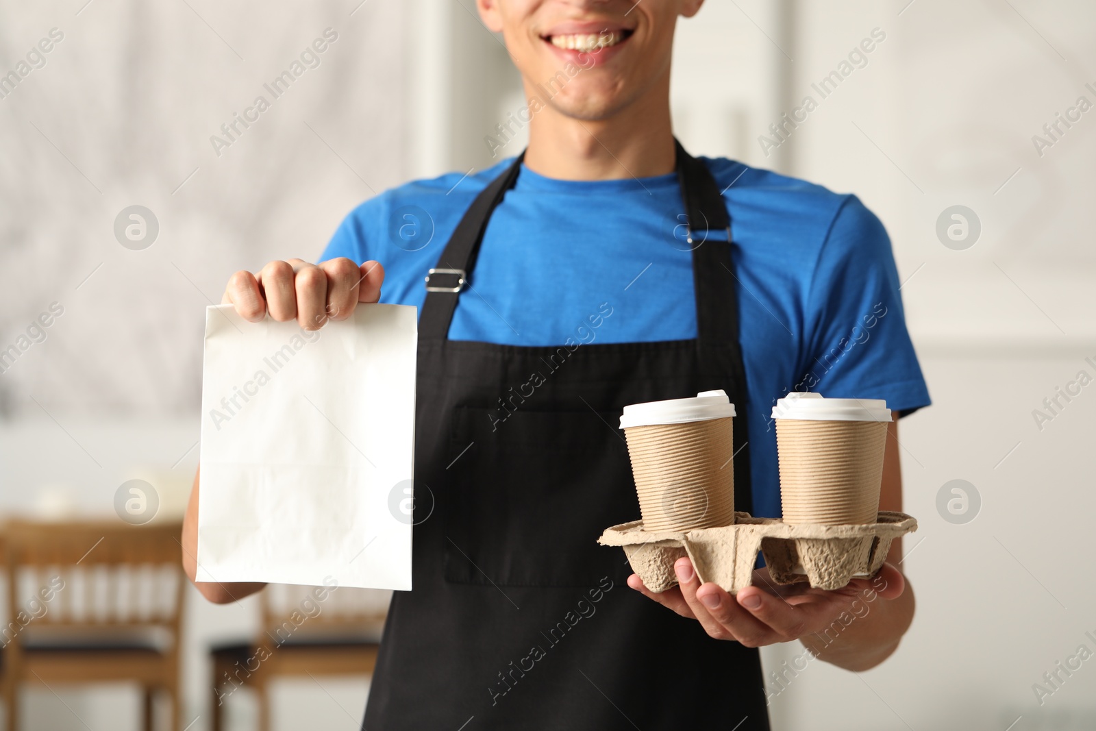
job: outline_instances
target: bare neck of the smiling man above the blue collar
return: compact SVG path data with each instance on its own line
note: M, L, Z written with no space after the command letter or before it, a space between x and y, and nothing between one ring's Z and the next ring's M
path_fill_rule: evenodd
M525 83L526 98L540 95ZM623 108L600 119L568 116L552 105L529 122L529 170L560 180L648 178L674 170L670 73Z

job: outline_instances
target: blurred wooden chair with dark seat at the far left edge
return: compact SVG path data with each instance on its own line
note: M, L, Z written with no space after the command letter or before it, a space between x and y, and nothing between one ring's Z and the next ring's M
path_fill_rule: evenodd
M183 585L178 523L23 523L3 527L8 624L0 627L7 731L19 731L19 690L45 684L132 681L171 700L178 731Z

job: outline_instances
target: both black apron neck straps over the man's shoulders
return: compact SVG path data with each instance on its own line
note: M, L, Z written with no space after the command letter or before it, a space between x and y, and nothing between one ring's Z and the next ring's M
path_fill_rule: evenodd
M738 300L730 255L731 218L723 196L708 171L674 139L675 169L682 202L688 218L688 241L693 245L693 283L696 290L697 333L703 345L738 344ZM513 163L476 196L465 213L437 266L426 277L426 299L419 318L421 340L445 340L460 292L476 265L480 243L495 207L517 182L525 159L523 151ZM704 245L710 232L727 231Z

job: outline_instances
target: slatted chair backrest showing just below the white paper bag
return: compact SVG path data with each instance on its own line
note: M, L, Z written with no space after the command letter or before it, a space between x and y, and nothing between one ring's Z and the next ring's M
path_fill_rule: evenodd
M260 640L378 637L391 592L338 586L271 584L262 593Z

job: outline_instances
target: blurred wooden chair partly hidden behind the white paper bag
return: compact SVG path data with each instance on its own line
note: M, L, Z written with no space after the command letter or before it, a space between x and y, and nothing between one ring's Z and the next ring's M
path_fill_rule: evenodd
M262 629L254 641L214 647L213 731L237 689L259 700L259 729L270 730L269 687L278 677L372 675L388 593L271 584L261 594Z

